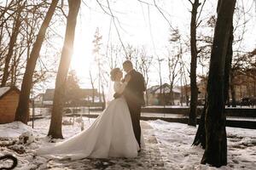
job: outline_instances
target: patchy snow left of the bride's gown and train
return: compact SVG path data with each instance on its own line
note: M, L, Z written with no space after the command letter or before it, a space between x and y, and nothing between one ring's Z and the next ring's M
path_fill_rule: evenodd
M69 120L69 117L64 117L64 120ZM84 118L84 128L88 128L95 119ZM15 169L28 170L28 169L46 169L48 159L36 156L34 157L34 150L43 145L50 145L49 138L46 137L49 130L49 117L39 119L34 122L34 128L27 126L21 122L12 122L8 124L0 124L0 156L5 154L13 154L18 160L18 167ZM29 122L28 125L31 125ZM63 137L68 139L74 134L81 132L81 127L78 122L74 122L72 126L62 126ZM24 133L32 133L34 142L32 144L20 144L16 142L11 146L4 146L9 144L8 141L16 141L20 135ZM60 142L61 139L56 139L55 142ZM16 150L16 151L15 151ZM9 167L9 162L0 161L0 167Z

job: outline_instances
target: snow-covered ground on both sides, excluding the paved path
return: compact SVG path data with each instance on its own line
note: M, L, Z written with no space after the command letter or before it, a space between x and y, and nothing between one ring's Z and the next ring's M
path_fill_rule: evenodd
M69 121L69 117L64 117ZM84 117L84 128L90 126L95 119ZM65 139L70 138L81 131L79 118L73 125L63 126L62 131ZM32 122L29 122L31 125ZM165 162L166 169L216 169L201 165L203 150L199 146L191 146L195 137L196 128L181 123L150 121L148 124L153 127L160 154ZM46 134L49 129L49 118L36 120L32 129L20 122L0 125L0 156L14 154L19 159L17 169L45 169L47 160L44 157L34 157L33 150L38 147L51 144ZM33 137L30 144L21 144L18 137L21 133L32 132ZM256 167L256 130L227 127L228 133L228 166L219 169L255 169ZM31 134L30 134L31 135ZM10 141L16 141L9 145ZM33 142L32 142L33 141ZM146 153L147 154L147 153ZM0 161L2 165L8 166L9 161ZM143 162L142 162L143 163ZM75 167L73 169L79 169Z

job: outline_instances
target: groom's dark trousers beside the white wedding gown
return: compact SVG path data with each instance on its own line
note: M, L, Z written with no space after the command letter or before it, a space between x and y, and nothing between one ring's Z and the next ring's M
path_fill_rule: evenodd
M141 119L141 111L142 106L136 105L131 102L127 102L127 105L129 107L129 111L131 114L131 122L133 127L133 132L135 134L135 138L137 139L137 143L141 147L141 125L140 125L140 119Z

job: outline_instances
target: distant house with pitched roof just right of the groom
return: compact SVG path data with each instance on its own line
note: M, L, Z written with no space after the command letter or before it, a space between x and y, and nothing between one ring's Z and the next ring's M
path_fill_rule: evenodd
M147 89L148 91L148 105L171 105L171 88L165 83L161 86L156 85ZM179 88L172 88L174 105L179 105L181 98L181 90Z

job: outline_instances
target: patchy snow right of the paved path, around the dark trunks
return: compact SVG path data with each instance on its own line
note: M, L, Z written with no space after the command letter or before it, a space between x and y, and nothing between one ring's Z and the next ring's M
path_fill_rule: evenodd
M197 128L175 122L150 121L166 169L217 169L201 165L204 150L191 146ZM256 130L227 127L228 165L218 169L255 169Z

